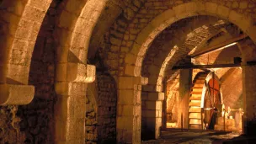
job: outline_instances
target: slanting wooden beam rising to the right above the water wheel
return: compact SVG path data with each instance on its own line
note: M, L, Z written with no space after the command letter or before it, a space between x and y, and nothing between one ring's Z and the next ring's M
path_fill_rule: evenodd
M244 35L244 34L243 35L239 35L236 38L232 38L232 39L226 40L224 42L221 42L220 44L213 45L213 46L211 46L209 48L205 48L206 49L205 51L200 51L200 52L198 52L196 54L191 55L191 57L193 58L193 57L196 57L196 56L204 55L204 54L206 54L208 52L211 52L211 51L217 51L217 50L221 49L223 46L231 45L232 43L234 43L234 42L236 42L238 40L242 40L242 39L247 38L247 37L248 37L248 35Z

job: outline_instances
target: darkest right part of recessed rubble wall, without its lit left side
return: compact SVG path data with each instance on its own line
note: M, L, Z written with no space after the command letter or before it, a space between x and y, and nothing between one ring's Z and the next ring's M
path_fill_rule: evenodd
M115 143L117 89L108 72L97 72L99 143Z

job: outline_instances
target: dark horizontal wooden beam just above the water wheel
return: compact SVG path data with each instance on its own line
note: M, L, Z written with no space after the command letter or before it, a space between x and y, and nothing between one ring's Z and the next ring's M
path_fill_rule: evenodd
M174 66L172 70L179 69L206 69L206 68L224 68L224 67L241 67L241 64L215 64L215 65L184 65Z

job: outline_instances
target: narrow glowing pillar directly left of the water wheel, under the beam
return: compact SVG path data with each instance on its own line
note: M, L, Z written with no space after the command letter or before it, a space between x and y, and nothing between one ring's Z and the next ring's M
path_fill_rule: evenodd
M188 128L189 123L189 93L192 84L192 69L180 70L179 74L179 117L178 125ZM183 119L181 122L181 118ZM183 125L182 125L183 124Z

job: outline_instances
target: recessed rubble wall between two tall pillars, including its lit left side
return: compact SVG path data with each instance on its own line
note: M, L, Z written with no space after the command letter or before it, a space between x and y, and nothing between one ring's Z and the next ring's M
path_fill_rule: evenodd
M88 85L86 103L86 141L115 143L116 100L115 79L107 72L97 72L94 83Z

